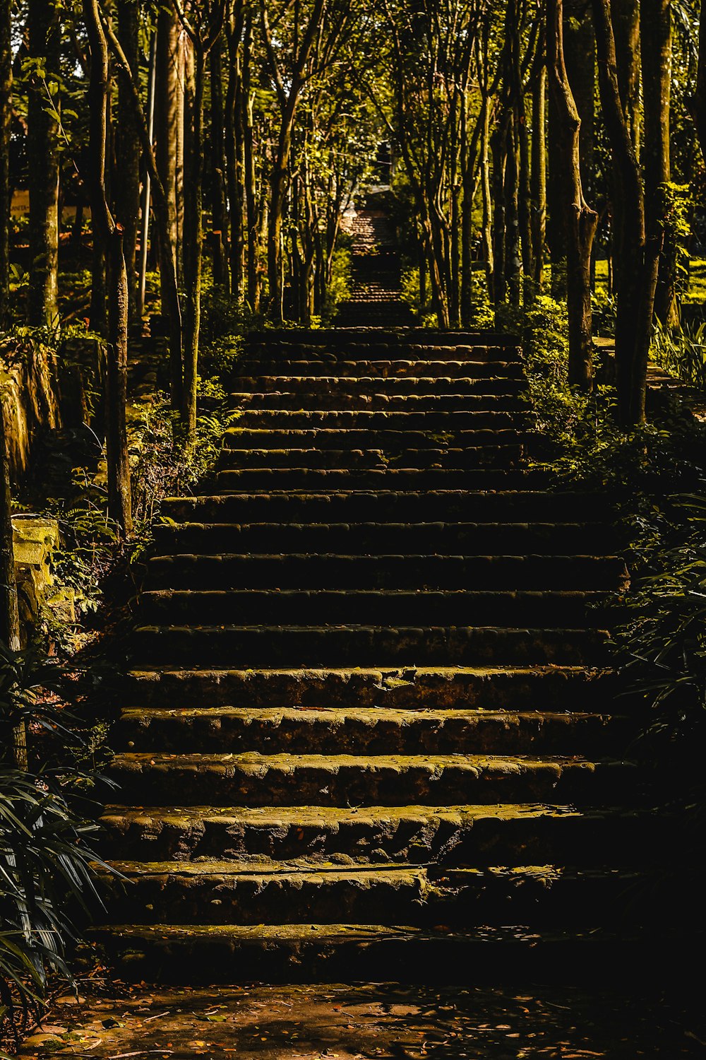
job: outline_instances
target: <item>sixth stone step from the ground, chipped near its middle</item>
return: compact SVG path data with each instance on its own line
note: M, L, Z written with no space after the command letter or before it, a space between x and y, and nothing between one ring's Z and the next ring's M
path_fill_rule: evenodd
M400 669L132 670L131 704L181 707L386 707L574 710L611 706L611 670L584 667L404 667Z

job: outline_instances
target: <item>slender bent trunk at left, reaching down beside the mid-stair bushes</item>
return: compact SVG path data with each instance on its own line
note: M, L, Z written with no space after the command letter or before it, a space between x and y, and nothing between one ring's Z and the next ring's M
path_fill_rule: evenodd
M84 19L91 51L89 102L89 173L91 225L109 248L109 319L106 351L106 462L108 515L122 533L130 533L132 514L127 452L125 404L127 395L127 271L123 233L106 199L106 125L108 120L108 45L101 22L98 0L84 0Z

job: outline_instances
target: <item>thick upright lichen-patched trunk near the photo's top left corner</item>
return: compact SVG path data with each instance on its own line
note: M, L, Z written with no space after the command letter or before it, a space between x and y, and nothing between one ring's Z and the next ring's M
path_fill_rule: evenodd
M49 85L59 68L58 0L30 0L29 54L46 60L46 76L34 73L28 87L28 187L30 191L29 322L37 328L58 323L59 153L56 98Z

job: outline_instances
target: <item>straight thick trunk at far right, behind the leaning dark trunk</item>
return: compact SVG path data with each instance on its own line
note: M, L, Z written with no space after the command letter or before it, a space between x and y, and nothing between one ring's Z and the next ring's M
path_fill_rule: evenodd
M706 11L704 13L706 17ZM678 323L676 304L676 238L665 231L667 195L664 186L670 179L669 113L672 68L671 0L641 0L640 50L642 59L642 106L645 113L645 224L648 237L658 240L665 232L655 316L663 324Z

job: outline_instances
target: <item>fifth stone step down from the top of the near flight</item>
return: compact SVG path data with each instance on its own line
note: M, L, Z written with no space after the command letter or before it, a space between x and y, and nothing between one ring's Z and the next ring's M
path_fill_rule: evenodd
M382 388L378 387L378 389ZM311 394L305 391L291 393L285 389L283 391L263 391L261 393L236 391L230 394L230 401L233 408L242 408L248 411L289 409L293 412L302 412L309 409L326 409L333 413L380 411L432 412L434 414L472 412L477 416L491 416L499 412L513 416L526 414L526 408L518 398L504 396L503 394L359 393L349 389L327 389Z

